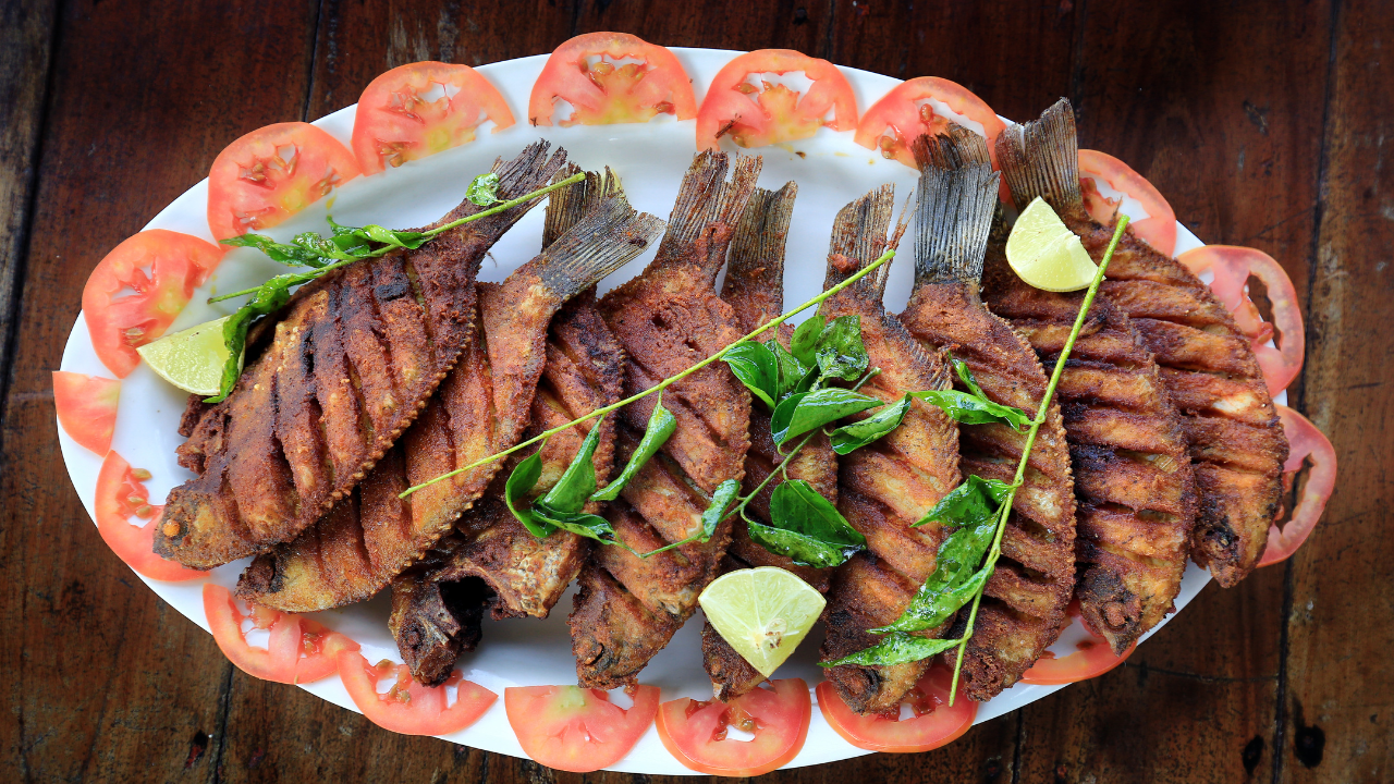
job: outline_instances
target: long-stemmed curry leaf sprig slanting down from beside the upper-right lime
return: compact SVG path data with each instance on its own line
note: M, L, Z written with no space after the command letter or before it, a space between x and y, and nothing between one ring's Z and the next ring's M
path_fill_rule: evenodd
M1094 279L1085 293L1069 338L1065 340L1065 346L1055 360L1055 367L1046 385L1046 395L1036 409L1036 417L1030 420L1030 428L1026 431L1026 442L1022 446L1022 456L1018 460L1012 483L1008 484L970 476L963 484L945 495L923 520L916 523L923 525L930 520L940 520L945 523L945 529L953 529L940 545L934 572L930 573L926 583L910 600L909 607L906 607L905 612L894 624L871 629L871 632L884 635L880 643L836 661L822 663L824 667L839 664L903 664L928 658L956 647L953 682L949 688L949 704L953 704L958 695L959 677L963 670L963 656L967 650L967 642L973 638L977 610L983 601L983 590L997 569L997 561L1002 554L1002 536L1006 532L1006 519L1012 512L1016 491L1025 481L1026 465L1036 445L1036 435L1040 432L1041 425L1046 424L1055 388L1065 372L1065 364L1069 361L1069 354L1079 339L1085 319L1089 315L1089 308L1098 294L1098 286L1104 280L1108 262L1112 259L1126 226L1128 216L1119 215L1112 240L1108 243L1108 248L1098 262L1098 269L1094 272ZM966 368L960 363L955 363L955 367L965 385L974 392L980 392L970 377L965 377ZM951 639L916 636L916 632L924 632L942 625L955 612L969 605L969 603L972 603L972 608L969 610L962 636Z

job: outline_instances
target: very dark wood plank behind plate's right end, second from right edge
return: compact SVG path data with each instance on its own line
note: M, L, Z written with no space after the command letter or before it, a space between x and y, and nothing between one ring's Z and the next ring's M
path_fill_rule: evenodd
M1262 247L1305 289L1328 6L1080 7L1080 144L1149 177L1204 241ZM1023 709L1020 780L1271 777L1282 597L1281 569L1210 586L1124 668Z

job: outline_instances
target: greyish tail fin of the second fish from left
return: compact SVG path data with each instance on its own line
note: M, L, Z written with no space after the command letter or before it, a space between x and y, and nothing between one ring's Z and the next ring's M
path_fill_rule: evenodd
M623 191L598 199L574 226L534 262L542 283L563 301L595 285L644 252L664 222L634 212Z

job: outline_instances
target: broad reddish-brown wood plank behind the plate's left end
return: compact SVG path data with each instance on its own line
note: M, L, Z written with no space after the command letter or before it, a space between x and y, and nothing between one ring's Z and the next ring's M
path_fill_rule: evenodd
M0 780L206 777L216 756L231 665L98 536L66 478L49 371L98 259L204 177L224 144L300 117L315 7L63 8L3 412L11 679L0 737L18 749L0 759Z

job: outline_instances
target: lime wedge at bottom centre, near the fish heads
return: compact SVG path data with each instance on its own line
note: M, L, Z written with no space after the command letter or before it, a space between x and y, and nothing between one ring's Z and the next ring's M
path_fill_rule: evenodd
M697 597L717 632L769 677L799 647L822 612L822 594L776 566L737 569Z

